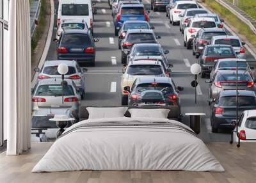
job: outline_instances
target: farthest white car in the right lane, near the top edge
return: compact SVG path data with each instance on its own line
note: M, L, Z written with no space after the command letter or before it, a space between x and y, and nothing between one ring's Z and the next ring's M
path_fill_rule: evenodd
M172 8L170 9L170 23L175 25L180 22L179 15L183 14L185 10L190 8L199 8L196 1L177 1L173 3Z

